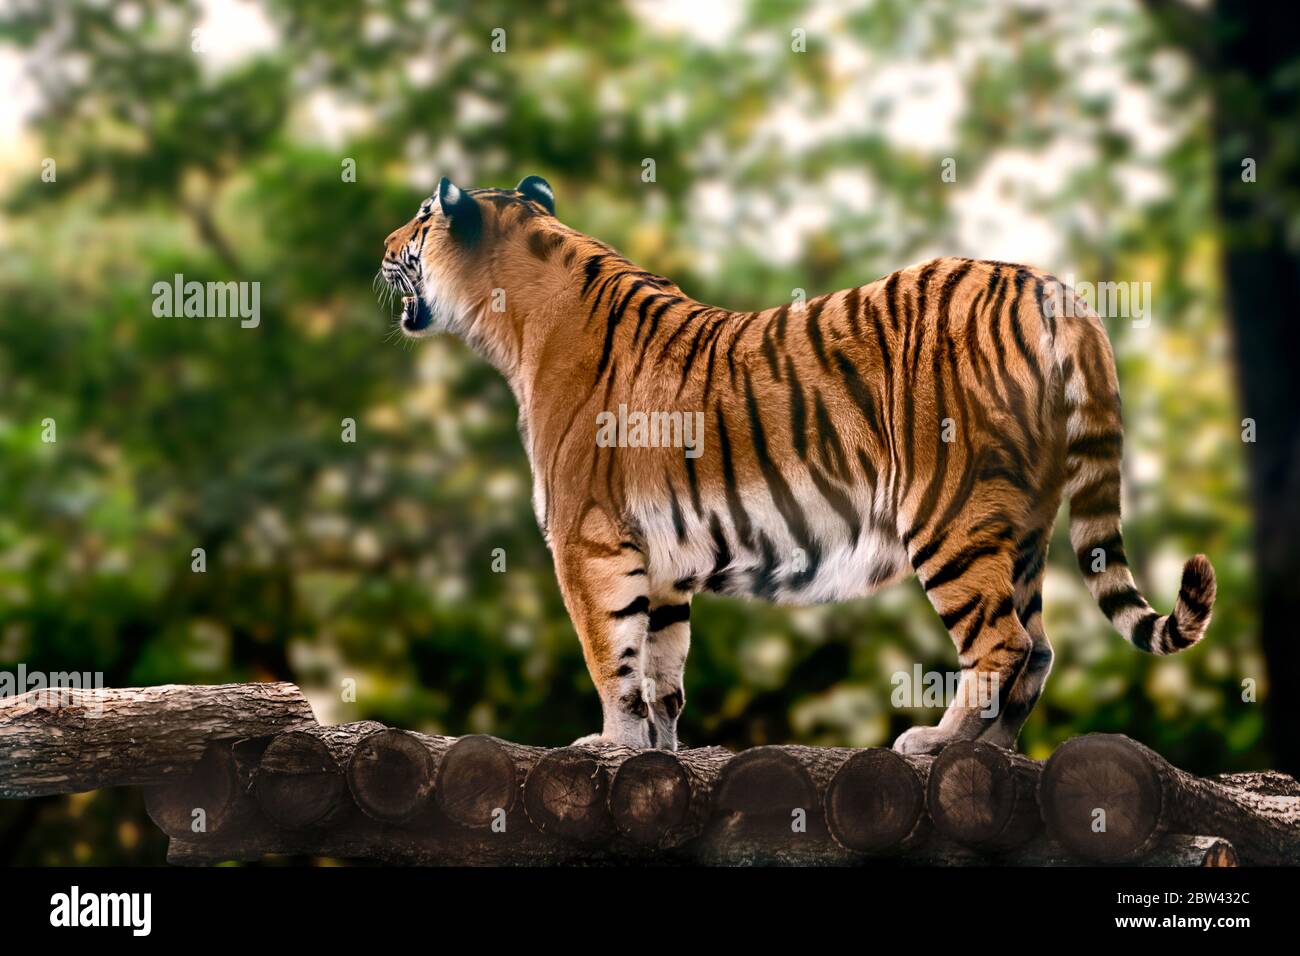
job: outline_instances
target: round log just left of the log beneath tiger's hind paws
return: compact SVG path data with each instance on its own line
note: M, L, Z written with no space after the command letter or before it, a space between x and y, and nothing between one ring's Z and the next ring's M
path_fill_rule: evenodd
M872 747L844 761L823 801L835 842L861 853L889 853L919 842L932 760Z

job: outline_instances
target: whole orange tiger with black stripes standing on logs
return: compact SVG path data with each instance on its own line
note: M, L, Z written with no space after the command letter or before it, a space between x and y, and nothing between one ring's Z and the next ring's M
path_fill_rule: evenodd
M604 715L577 743L676 748L697 592L838 601L913 571L961 678L939 726L894 748L1014 745L1052 667L1041 591L1062 496L1115 630L1153 654L1205 633L1204 555L1173 614L1134 585L1114 356L1052 276L936 259L729 312L562 225L536 176L443 178L387 237L382 274L407 336L462 336L519 402L533 507ZM602 441L615 414L621 441ZM671 428L632 441L633 419L703 429L684 449Z

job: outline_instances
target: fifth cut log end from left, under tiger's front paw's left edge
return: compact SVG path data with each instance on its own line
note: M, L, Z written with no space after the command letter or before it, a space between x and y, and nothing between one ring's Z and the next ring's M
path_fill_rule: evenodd
M538 830L576 843L608 834L608 780L599 758L566 747L543 754L524 780L524 810Z

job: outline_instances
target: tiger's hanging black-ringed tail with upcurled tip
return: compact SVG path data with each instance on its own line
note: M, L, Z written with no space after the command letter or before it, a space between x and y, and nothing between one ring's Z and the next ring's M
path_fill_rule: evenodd
M1138 591L1119 532L1123 425L1119 382L1105 326L1072 291L1074 317L1057 320L1057 362L1065 381L1066 486L1070 544L1088 591L1112 626L1139 650L1173 654L1205 636L1214 606L1214 567L1204 554L1183 566L1171 614Z

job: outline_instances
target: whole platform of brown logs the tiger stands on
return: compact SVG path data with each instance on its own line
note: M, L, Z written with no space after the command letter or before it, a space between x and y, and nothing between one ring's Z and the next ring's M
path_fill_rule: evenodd
M812 747L547 749L316 722L292 684L0 698L0 799L144 788L168 861L1300 864L1300 783L1199 778L1124 736L1045 761Z

